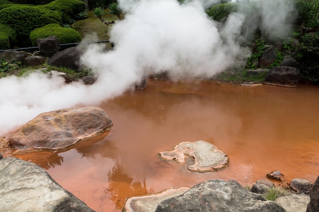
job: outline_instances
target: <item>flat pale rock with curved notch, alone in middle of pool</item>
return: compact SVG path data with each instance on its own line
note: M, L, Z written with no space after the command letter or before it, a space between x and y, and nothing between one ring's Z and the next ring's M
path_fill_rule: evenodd
M228 156L211 143L199 140L196 142L181 142L170 152L161 152L159 156L166 161L185 162L185 155L193 157L194 165L188 170L193 172L218 171L228 166Z

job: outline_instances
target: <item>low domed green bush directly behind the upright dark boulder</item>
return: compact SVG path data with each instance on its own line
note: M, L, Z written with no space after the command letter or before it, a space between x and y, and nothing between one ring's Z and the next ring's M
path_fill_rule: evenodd
M59 24L51 23L43 27L36 28L30 33L30 40L34 46L37 46L38 38L47 38L56 36L60 44L78 43L81 41L81 34L72 28L64 28Z

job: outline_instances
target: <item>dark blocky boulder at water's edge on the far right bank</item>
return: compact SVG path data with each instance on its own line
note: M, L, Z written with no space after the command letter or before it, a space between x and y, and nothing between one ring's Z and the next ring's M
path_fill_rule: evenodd
M265 76L265 83L283 86L297 86L299 80L299 69L288 66L273 67Z

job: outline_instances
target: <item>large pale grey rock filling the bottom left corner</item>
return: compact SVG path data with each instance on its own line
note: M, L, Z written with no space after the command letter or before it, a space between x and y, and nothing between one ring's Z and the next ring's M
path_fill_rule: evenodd
M0 160L0 173L1 211L94 212L36 164L8 157Z

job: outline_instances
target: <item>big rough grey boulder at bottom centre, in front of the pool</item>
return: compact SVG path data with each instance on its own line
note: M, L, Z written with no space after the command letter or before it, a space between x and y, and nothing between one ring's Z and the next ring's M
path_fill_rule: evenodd
M285 212L277 203L266 201L261 195L249 192L233 181L206 180L182 195L162 201L155 212Z

